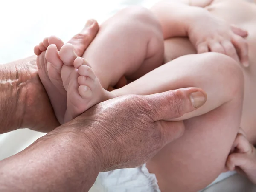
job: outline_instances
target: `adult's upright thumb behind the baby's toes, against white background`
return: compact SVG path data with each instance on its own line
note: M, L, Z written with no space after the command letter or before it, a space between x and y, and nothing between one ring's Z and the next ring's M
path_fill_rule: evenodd
M99 31L99 25L96 20L88 20L82 31L72 37L68 43L74 45L75 52L78 56L82 56L84 51L93 41Z

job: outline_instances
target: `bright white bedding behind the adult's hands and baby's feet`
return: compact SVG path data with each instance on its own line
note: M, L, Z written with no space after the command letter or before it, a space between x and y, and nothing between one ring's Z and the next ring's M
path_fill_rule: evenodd
M156 1L8 0L4 4L1 1L0 63L32 55L34 46L49 35L69 40L87 19L95 18L100 23L125 6L140 4L150 7ZM43 135L26 129L0 135L0 160L23 150ZM222 180L222 176L218 180Z

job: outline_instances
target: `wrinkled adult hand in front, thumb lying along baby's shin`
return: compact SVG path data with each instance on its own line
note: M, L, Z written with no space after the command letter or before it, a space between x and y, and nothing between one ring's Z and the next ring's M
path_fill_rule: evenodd
M79 127L67 129L75 133L75 138L86 138L101 161L101 171L137 167L183 134L182 121L163 119L180 117L203 105L205 100L199 106L192 103L197 100L190 98L195 91L206 100L206 94L198 88L126 95L97 104L63 126ZM77 142L81 145L80 139Z

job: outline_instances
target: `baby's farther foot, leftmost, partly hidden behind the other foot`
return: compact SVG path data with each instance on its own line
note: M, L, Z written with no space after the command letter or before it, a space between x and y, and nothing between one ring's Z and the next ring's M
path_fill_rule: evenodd
M37 57L38 75L47 91L58 121L64 122L67 109L67 92L61 79L62 61L58 51L64 43L55 36L46 37L34 48Z

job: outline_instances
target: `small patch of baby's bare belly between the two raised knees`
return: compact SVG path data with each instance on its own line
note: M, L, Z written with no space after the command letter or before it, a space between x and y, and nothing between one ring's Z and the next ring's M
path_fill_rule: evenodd
M196 49L187 37L174 37L164 40L164 63L180 56L196 53Z

